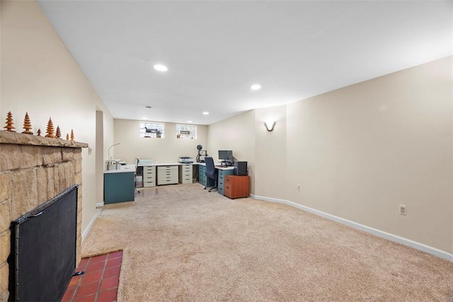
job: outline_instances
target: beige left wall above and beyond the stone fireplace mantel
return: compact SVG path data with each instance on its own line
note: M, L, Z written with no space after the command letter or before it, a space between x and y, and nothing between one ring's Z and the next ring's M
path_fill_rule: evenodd
M82 151L86 230L96 214L96 106L106 120L113 118L35 1L1 1L0 96L0 116L11 111L18 132L28 112L34 132L39 128L45 135L52 117L64 137L74 129L76 141L91 147L91 155ZM105 141L111 137L107 134Z

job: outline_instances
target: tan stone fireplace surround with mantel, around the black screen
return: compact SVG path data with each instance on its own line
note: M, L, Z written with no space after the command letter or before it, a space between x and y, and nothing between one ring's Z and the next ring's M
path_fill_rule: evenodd
M76 265L80 261L81 148L88 144L0 131L0 301L8 301L11 221L79 185Z

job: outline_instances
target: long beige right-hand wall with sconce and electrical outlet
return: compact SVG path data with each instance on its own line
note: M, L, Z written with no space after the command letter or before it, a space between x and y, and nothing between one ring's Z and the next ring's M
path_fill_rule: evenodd
M248 156L258 197L452 253L452 73L448 57L246 112L210 125L209 148L255 152ZM263 126L268 119L277 122L273 132ZM223 134L232 139L222 142Z

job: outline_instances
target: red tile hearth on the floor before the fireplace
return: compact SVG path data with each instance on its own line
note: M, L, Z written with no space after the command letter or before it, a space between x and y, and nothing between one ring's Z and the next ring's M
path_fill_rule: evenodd
M85 274L72 277L62 302L116 301L121 262L122 250L82 259L76 272Z

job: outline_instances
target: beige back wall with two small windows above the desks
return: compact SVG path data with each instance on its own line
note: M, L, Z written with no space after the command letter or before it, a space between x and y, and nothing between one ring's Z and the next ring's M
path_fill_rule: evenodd
M115 144L110 156L126 163L135 158L153 159L155 163L177 163L180 156L197 156L197 145L207 145L207 126L197 125L197 139L176 139L176 124L164 123L164 138L139 137L140 121L115 119ZM105 156L107 159L108 156Z

